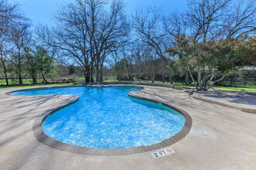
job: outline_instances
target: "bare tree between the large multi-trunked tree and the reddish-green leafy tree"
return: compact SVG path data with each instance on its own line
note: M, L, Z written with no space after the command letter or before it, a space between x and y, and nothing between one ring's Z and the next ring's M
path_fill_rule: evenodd
M174 15L174 14L172 14ZM138 33L139 38L146 44L154 49L154 53L157 54L157 58L161 58L168 66L167 53L164 50L175 41L175 37L182 33L184 23L179 20L181 16L175 15L176 21L169 17L162 15L161 8L140 8L137 9L135 15L133 15L133 28ZM179 22L179 23L178 23ZM175 26L175 24L177 26ZM171 42L172 41L172 42ZM149 56L153 59L152 56ZM157 59L156 58L156 59ZM149 64L148 73L151 75L151 81L154 82L155 67L153 66L157 62L147 62ZM158 62L159 63L159 62ZM165 67L165 66L164 66ZM164 71L163 71L164 70ZM163 82L165 81L165 68L161 71ZM159 70L160 71L160 70ZM171 76L171 73L168 73ZM171 79L170 79L171 80Z

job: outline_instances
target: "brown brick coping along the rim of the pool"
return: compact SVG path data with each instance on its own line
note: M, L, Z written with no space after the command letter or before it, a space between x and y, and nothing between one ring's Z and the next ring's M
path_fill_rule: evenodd
M71 87L71 86L70 86ZM74 86L75 87L75 86ZM115 87L115 86L112 86ZM36 88L33 88L36 89ZM26 89L29 90L29 89ZM20 91L20 90L15 90ZM14 91L12 91L14 92ZM12 92L9 92L8 94L11 94ZM12 95L12 94L11 94ZM162 104L166 107L170 107L171 109L177 110L180 114L182 114L185 117L185 124L182 128L182 131L179 131L177 134L172 136L171 138L165 139L164 141L161 141L160 143L154 144L154 145L148 145L148 146L138 146L133 148L86 148L81 146L75 146L75 145L69 145L66 143L63 143L61 141L54 140L53 138L50 138L43 132L42 123L43 121L50 116L51 114L54 114L57 110L61 110L63 107L67 107L70 104L73 104L77 100L79 100L78 96L75 96L71 98L71 100L67 101L67 104L64 104L62 107L58 107L53 110L47 110L44 114L41 114L39 117L36 118L36 120L33 123L33 134L36 137L37 141L40 141L44 145L50 146L51 148L56 148L61 151L68 151L71 153L81 154L81 155L133 155L133 154L139 154L144 153L147 151L154 151L161 148L166 148L170 145L175 144L176 142L182 140L182 138L185 138L187 134L189 134L189 131L192 128L192 117L185 111L178 107L175 107L171 104L167 104L164 102L161 102L159 100L152 100L148 99L146 97L140 97L137 95L132 94L131 92L128 93L130 97L138 98L140 100L148 100L157 104Z

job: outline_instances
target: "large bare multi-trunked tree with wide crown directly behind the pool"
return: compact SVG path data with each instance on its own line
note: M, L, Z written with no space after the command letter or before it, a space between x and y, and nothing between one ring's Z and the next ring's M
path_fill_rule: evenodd
M123 2L113 1L109 10L107 6L103 0L75 0L59 8L57 27L37 29L45 44L63 50L80 66L86 82L94 81L95 67L97 81L103 81L106 56L123 45L122 37L127 34Z

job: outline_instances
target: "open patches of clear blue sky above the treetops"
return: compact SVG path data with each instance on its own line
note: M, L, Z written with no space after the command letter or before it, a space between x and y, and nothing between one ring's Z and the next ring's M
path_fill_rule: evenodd
M57 11L57 5L67 0L8 0L18 3L26 17L31 19L33 25L54 25L53 13ZM164 11L182 10L186 6L186 0L124 0L126 12L130 13L139 6L161 6Z

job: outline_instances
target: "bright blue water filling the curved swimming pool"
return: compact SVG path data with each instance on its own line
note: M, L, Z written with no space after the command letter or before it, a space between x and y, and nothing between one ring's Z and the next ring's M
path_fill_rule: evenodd
M79 100L43 121L50 138L88 148L153 145L181 131L185 118L175 110L129 97L129 87L52 87L16 95L74 94Z

